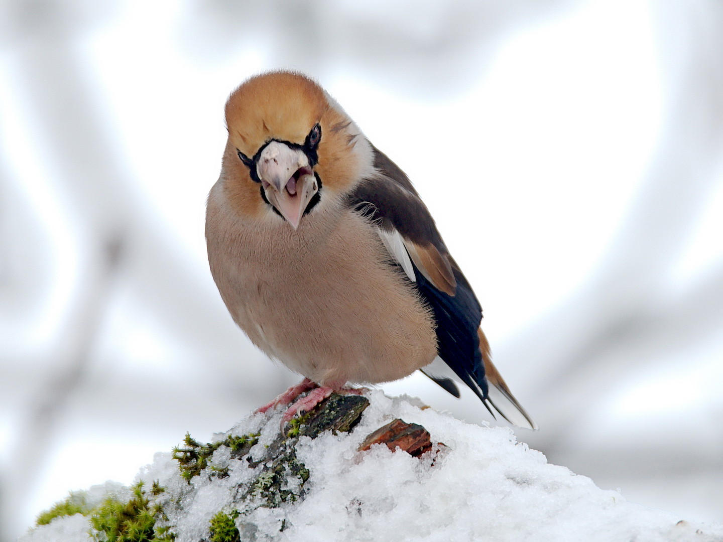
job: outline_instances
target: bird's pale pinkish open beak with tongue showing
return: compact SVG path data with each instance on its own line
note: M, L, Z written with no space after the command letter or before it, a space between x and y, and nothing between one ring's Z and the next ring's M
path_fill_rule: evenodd
M296 230L319 186L303 151L272 141L262 150L256 171L266 199Z

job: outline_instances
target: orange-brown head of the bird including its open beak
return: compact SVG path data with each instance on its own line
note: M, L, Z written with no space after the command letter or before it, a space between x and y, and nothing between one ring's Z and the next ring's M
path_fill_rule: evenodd
M231 201L244 215L280 215L294 230L371 163L356 124L301 74L248 79L228 98L226 126L222 177Z

